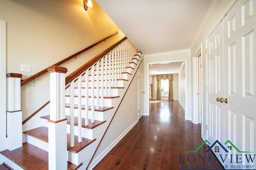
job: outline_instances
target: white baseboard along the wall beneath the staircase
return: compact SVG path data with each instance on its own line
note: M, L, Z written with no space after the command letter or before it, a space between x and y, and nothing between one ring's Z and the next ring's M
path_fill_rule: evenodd
M121 139L123 139L123 137L136 125L136 123L138 123L138 120L134 121L134 123L132 123L132 125L130 125L119 137L117 137L116 140L114 140L105 150L103 150L99 156L94 158L90 165L90 169L94 168L104 158L104 156L106 156L106 154L108 154L108 152L110 152L110 150L113 149L116 144L121 141Z

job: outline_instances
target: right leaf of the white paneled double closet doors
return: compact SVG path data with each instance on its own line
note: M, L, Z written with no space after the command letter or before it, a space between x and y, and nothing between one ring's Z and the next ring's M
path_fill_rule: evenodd
M254 0L238 0L224 18L223 98L228 102L222 103L225 106L225 141L230 140L240 151L248 152L256 152L254 3ZM230 152L244 154L234 148Z

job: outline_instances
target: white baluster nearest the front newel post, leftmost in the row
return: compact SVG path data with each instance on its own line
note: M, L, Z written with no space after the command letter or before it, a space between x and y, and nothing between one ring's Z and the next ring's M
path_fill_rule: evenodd
M74 147L74 80L70 82L70 147ZM79 89L78 89L79 91Z

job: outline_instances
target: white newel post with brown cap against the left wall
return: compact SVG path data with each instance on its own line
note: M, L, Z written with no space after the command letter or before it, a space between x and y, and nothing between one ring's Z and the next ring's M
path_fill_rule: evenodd
M22 110L20 107L20 81L22 74L8 73L7 76L7 134L8 148L22 147Z

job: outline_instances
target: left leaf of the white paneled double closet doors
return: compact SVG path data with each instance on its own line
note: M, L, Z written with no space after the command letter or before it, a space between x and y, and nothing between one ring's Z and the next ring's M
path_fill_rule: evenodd
M216 99L224 96L223 22L207 38L207 139L224 141L224 105Z

